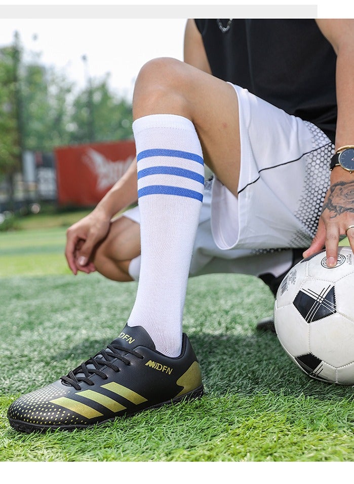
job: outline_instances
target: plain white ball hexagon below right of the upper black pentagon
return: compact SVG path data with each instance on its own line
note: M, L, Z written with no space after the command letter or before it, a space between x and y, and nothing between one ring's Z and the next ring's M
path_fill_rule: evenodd
M339 367L354 362L354 322L339 313L309 325L310 352Z

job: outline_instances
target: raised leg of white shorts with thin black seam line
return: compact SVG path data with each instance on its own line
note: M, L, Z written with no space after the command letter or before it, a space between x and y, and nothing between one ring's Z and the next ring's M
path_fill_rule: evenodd
M233 86L239 100L238 197L215 179L212 233L223 250L308 247L330 184L334 146L313 124Z

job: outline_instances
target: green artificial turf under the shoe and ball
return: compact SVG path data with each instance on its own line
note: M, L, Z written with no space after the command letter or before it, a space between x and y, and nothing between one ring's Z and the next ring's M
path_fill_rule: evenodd
M58 227L0 235L0 253L7 251L0 258L1 461L354 460L352 389L310 379L273 333L256 331L272 313L273 297L261 281L237 274L188 282L184 331L202 367L200 400L80 431L13 430L10 403L97 353L121 331L134 303L136 283L66 272L64 241ZM46 255L52 264L38 260L41 272L33 275L31 260ZM6 258L19 257L21 267L3 268Z

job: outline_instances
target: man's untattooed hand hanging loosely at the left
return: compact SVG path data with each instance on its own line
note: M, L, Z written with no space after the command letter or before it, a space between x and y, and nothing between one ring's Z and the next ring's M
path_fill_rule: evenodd
M74 275L79 270L88 274L96 270L92 256L97 244L106 237L109 227L110 218L95 209L67 229L65 257Z

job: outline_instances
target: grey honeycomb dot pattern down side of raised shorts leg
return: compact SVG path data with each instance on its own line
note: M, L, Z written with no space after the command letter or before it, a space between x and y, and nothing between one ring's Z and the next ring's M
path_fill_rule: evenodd
M295 217L301 221L304 231L298 231L291 247L308 247L316 234L323 201L330 186L329 165L334 145L328 136L314 124L304 121L312 133L313 151L306 154L304 188Z

